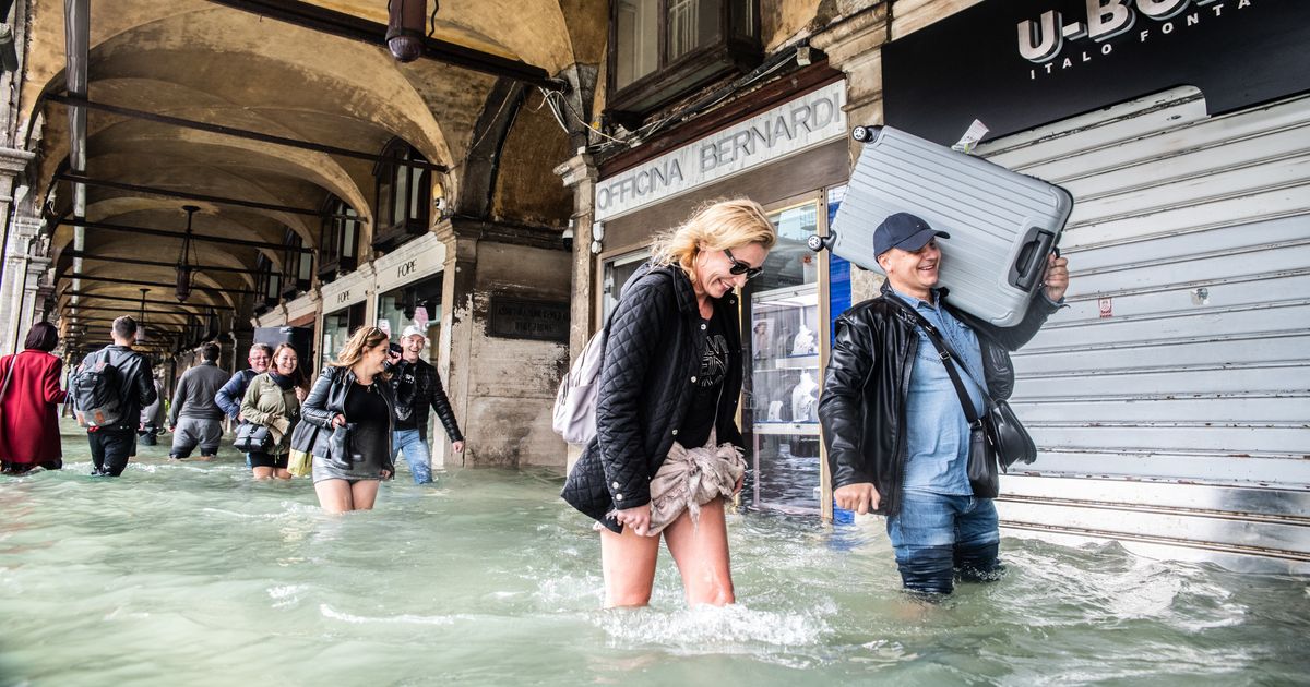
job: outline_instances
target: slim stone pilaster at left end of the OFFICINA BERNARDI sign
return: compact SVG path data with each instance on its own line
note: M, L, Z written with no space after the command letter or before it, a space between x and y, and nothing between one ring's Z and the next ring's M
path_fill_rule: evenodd
M591 253L591 225L596 217L596 165L588 154L578 154L555 167L555 175L574 191L572 294L569 309L569 360L582 355L591 335L600 328L592 285L596 283L596 256ZM572 470L582 446L569 446L567 470Z

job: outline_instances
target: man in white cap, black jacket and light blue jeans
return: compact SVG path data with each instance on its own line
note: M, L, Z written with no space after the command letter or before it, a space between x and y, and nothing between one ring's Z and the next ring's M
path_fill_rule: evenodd
M396 387L396 434L392 446L405 454L415 484L432 482L431 453L427 449L427 412L436 411L455 453L464 450L464 434L455 421L451 399L445 396L436 368L422 359L427 336L415 326L401 332L401 361L396 364L392 385ZM396 461L396 455L392 457Z

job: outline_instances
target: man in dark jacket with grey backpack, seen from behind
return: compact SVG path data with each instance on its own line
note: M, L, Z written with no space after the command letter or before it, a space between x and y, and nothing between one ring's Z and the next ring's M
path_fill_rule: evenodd
M117 395L118 419L98 427L88 427L86 440L90 442L90 459L94 465L92 474L117 478L127 467L127 458L136 453L136 429L141 424L141 407L153 403L159 394L155 391L149 362L132 351L136 321L127 315L115 319L110 338L114 339L114 344L86 356L73 374L88 374L97 366L101 370L103 368L115 370L113 377L103 373L102 377L118 382L117 387L105 390L110 395ZM79 411L92 411L76 398L73 404Z

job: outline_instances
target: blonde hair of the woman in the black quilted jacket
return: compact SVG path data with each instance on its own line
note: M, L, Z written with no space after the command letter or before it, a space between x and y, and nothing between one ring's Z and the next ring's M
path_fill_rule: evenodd
M677 264L696 281L696 255L702 250L731 250L751 243L769 250L777 241L778 232L755 200L710 200L696 208L681 226L655 237L651 262L658 267Z

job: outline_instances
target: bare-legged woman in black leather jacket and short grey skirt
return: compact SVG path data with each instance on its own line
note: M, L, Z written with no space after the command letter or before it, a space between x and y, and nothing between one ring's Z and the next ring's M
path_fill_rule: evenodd
M355 330L305 399L305 421L320 428L314 491L329 513L371 510L381 480L396 474L396 395L386 378L400 355L389 344L377 327Z

